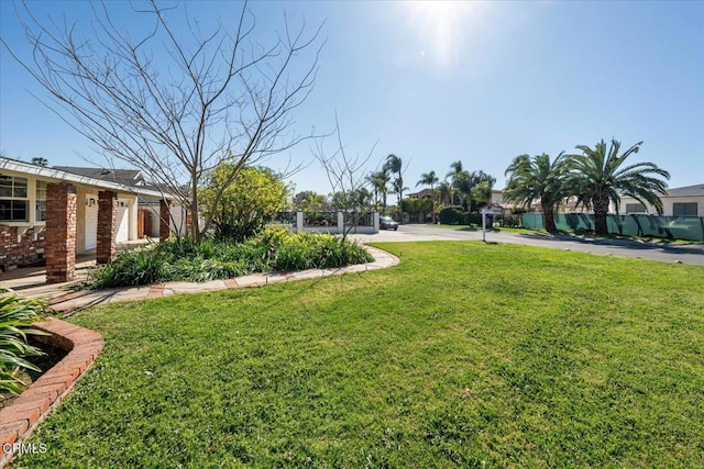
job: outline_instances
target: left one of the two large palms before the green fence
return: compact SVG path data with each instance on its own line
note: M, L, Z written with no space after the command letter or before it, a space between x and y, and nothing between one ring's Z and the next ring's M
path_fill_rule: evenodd
M510 177L504 189L504 199L508 202L530 206L534 200L540 200L543 225L549 233L558 231L554 224L554 209L568 196L565 178L568 166L564 152L550 161L550 155L542 154L530 158L520 155L514 158L505 175Z

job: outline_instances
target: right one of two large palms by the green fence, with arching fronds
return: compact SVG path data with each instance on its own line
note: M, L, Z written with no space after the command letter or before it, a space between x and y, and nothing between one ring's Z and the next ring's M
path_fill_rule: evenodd
M570 189L576 196L578 204L594 208L594 230L597 235L608 234L608 203L614 202L618 212L622 196L634 198L644 205L648 202L658 214L662 214L662 201L658 193L667 192L668 183L661 178L670 179L670 174L653 163L622 167L626 158L638 153L640 145L642 142L619 155L620 142L612 139L607 150L602 139L593 149L578 145L582 155L571 156Z

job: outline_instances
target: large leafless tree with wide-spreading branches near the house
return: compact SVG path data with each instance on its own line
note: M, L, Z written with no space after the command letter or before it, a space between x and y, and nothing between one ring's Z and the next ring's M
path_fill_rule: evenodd
M151 0L134 9L151 30L133 37L113 22L106 3L96 7L91 34L76 25L44 24L29 7L18 10L33 56L10 54L50 93L42 101L95 144L108 159L143 170L164 192L193 214L189 234L197 241L211 220L228 181L253 165L310 137L293 131L292 111L308 97L322 44L320 27L306 34L305 23L285 31L273 45L253 42L255 19L242 5L232 27L218 22L202 33L186 15L188 33L169 25L174 8ZM144 31L144 29L140 29ZM302 71L293 64L310 52ZM231 174L201 210L198 189L227 161Z

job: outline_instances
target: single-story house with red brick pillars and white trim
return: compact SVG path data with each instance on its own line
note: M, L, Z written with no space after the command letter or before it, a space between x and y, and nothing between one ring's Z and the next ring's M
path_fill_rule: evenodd
M45 259L51 283L74 279L78 254L110 261L117 243L139 237L140 198L160 201L158 234L168 237L170 200L120 180L0 157L0 269Z

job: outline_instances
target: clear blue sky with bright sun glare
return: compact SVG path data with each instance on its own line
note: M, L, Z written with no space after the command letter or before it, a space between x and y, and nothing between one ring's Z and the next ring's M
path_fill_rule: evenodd
M40 18L87 24L86 2L31 2ZM185 2L207 24L232 2ZM704 182L704 2L252 2L268 42L284 11L327 40L316 88L294 115L301 133L329 131L337 111L348 152L369 170L394 153L415 190L462 160L496 177L520 154L568 153L615 137L644 141L632 163L671 172L670 187ZM123 9L124 10L124 9ZM130 24L129 15L117 21ZM28 53L13 4L0 1L0 34ZM0 47L0 149L29 160L86 166L90 144L32 94L45 97ZM307 143L271 158L311 161ZM280 166L280 167L279 167ZM297 190L330 192L311 163Z

